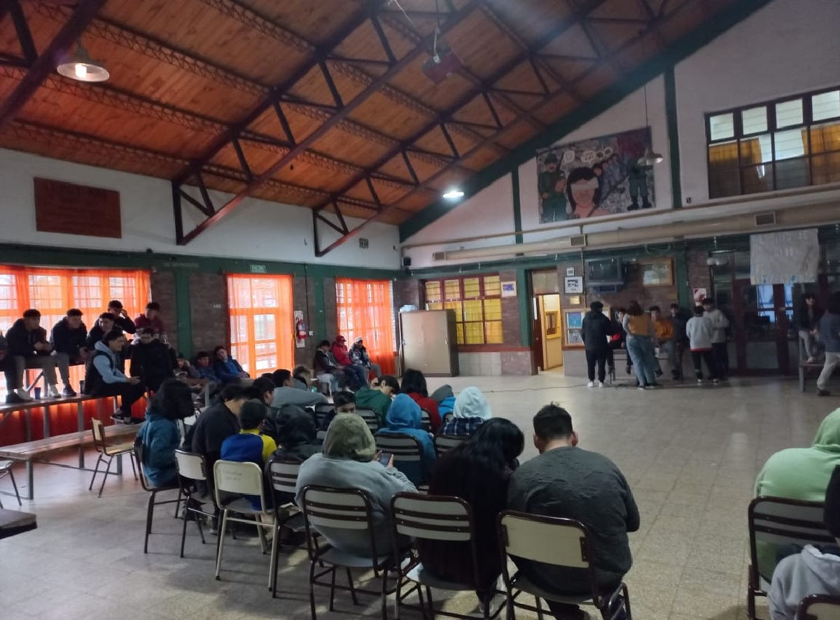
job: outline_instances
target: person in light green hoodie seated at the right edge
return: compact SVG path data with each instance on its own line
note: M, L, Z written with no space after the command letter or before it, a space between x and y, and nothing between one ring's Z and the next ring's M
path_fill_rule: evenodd
M755 497L824 502L834 468L840 465L840 409L822 420L811 448L788 448L770 456L755 481ZM759 544L759 574L767 581L780 558L773 544Z

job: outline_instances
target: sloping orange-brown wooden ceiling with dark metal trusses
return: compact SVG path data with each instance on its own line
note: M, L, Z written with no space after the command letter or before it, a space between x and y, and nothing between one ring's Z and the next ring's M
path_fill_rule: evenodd
M81 44L110 80L45 74L0 146L175 181L207 218L181 243L246 196L401 223L735 1L100 0ZM86 4L0 9L0 102L21 35L43 53ZM436 27L463 62L439 84Z

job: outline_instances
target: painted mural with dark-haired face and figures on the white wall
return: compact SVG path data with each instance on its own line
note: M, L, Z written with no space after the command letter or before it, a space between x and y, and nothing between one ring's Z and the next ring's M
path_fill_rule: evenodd
M638 164L650 145L650 128L645 127L540 151L539 222L654 208L653 168Z

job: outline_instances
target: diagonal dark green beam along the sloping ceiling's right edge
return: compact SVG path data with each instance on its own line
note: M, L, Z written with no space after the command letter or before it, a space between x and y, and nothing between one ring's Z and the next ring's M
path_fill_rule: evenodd
M538 135L529 139L517 149L512 150L504 159L487 166L483 171L465 181L462 184L462 189L465 192L464 200L475 196L476 193L502 176L511 173L526 161L532 160L538 149L563 138L592 118L606 112L622 101L624 97L638 91L648 81L659 76L663 71L673 68L680 60L684 60L708 45L732 26L739 24L770 2L771 0L739 0L737 3L732 3L729 7L717 13L709 24L681 37L669 50L644 62L641 66L627 73L621 80L598 92L595 97L592 97L591 101L586 102L585 106L576 108L573 112L566 114L557 123L539 132ZM438 201L428 205L423 211L400 225L400 241L405 241L413 234L417 234L428 224L451 210L451 202Z

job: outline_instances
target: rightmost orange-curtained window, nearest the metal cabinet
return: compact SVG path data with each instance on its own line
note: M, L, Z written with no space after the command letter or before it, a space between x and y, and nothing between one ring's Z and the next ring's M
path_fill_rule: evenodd
M352 346L361 336L370 361L391 375L394 365L394 303L390 280L335 281L335 297L339 318L339 334Z

